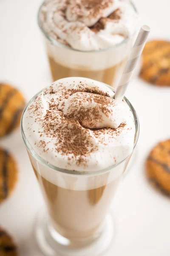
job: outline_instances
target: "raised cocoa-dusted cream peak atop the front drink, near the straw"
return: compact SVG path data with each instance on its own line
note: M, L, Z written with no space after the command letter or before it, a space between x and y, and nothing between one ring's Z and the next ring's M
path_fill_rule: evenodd
M72 94L65 101L63 113L92 129L118 128L124 121L121 102L94 93Z

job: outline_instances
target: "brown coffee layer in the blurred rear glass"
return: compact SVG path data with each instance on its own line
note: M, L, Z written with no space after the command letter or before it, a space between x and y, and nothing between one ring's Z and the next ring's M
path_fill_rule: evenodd
M116 73L125 65L126 59L119 64L116 64L113 67L109 67L103 70L79 70L79 69L71 69L54 61L53 58L48 56L52 78L53 81L56 81L61 78L70 77L70 76L79 76L79 77L87 77L90 79L94 79L97 81L101 81L105 84L112 85L113 81L116 77Z

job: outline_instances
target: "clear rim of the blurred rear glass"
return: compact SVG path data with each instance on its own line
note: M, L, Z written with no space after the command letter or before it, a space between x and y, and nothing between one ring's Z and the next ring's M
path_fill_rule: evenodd
M131 35L130 37L127 37L125 38L121 43L119 44L115 44L111 47L107 47L107 48L104 48L104 49L99 49L99 50L91 50L91 51L80 51L78 49L74 49L74 48L71 48L71 47L68 47L67 45L64 45L64 44L61 44L59 43L59 41L55 40L52 36L48 35L47 32L45 32L45 30L43 29L42 25L41 25L41 22L40 22L40 11L41 11L41 8L43 6L43 4L45 3L45 0L42 2L42 4L40 5L39 9L38 9L38 15L37 15L37 23L38 23L38 26L41 30L41 32L45 35L45 37L51 41L52 44L58 46L58 47L61 47L61 48L65 48L65 49L68 49L68 50L71 50L71 51L75 51L75 52L107 52L111 49L114 49L116 47L119 47L123 44L125 44L127 41L129 41L136 33L136 29L135 29L135 32L133 33L133 35ZM130 4L133 6L133 9L134 11L136 12L136 14L138 13L137 9L136 9L136 6L134 5L134 3L132 1L130 1Z

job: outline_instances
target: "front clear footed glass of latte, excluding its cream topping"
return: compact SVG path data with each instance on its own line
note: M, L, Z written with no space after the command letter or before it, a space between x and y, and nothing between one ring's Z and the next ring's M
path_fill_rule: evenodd
M26 109L36 96L28 102ZM139 120L133 106L126 98L124 100L134 117L135 148L139 137ZM22 124L23 116L23 140L48 210L48 213L41 212L36 227L37 241L42 251L48 256L101 255L113 240L113 219L109 209L131 154L122 162L97 172L59 169L39 157L31 148Z

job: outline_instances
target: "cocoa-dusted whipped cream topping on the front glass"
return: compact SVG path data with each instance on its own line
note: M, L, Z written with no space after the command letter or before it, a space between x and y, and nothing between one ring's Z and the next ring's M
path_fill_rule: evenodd
M92 172L113 166L133 151L135 125L126 102L91 79L60 79L42 90L23 116L34 151L62 169Z

